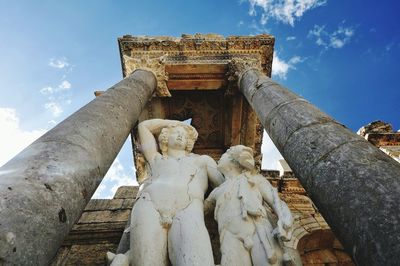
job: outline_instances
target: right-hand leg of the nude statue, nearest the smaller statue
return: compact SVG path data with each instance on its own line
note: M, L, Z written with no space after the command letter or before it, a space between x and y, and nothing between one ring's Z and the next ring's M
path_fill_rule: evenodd
M168 253L174 266L214 266L201 200L193 200L175 215L168 233Z

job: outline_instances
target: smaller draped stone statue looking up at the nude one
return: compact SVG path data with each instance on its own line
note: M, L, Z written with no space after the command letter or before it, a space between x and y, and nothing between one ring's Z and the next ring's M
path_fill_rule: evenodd
M221 266L301 265L297 252L282 243L291 238L292 214L277 190L255 172L253 150L231 147L218 170L226 181L206 199L205 211L215 207Z

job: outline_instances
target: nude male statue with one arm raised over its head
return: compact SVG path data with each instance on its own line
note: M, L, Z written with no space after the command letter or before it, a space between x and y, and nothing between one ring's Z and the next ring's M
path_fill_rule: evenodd
M148 177L131 214L131 264L214 265L203 201L208 180L223 182L215 161L190 153L197 131L180 121L143 121L138 133Z

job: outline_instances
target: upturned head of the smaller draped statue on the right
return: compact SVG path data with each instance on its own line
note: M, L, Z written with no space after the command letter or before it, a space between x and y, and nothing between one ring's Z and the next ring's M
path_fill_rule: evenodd
M230 171L232 168L235 168L239 172L253 170L253 149L243 145L236 145L222 154L218 162L218 170L224 173Z

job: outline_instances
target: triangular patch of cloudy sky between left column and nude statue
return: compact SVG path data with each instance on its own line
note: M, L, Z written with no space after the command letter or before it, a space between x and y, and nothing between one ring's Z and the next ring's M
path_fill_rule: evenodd
M112 198L120 186L138 186L138 183L134 176L126 173L117 157L92 198Z

